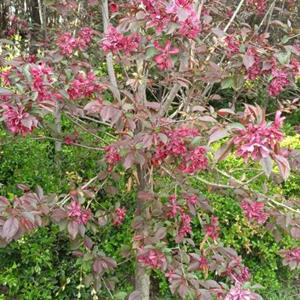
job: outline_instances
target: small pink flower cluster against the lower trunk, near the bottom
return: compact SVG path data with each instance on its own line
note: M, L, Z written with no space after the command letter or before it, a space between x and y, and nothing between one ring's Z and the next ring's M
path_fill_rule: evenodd
M142 250L138 255L138 262L152 269L165 269L167 261L162 252L156 249Z

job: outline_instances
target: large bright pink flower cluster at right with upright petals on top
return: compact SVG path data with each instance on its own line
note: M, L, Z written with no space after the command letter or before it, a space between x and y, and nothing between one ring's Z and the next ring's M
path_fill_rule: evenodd
M280 131L283 119L281 113L277 112L273 124L270 126L266 121L260 124L248 123L244 129L240 129L233 142L237 147L237 155L248 160L261 160L273 153L283 139Z

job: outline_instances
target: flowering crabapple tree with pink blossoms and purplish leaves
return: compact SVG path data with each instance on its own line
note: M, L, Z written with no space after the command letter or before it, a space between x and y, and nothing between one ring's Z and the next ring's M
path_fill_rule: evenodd
M20 183L21 197L2 196L1 245L57 223L78 245L77 259L90 265L86 284L113 290L119 262L93 236L130 218L127 257L135 262L135 288L129 299L149 299L151 270L164 274L182 299L261 299L242 258L222 244L218 218L202 192L233 191L249 223L278 239L283 233L300 238L299 203L251 184L271 180L275 169L277 180L287 180L291 171L290 151L280 148L289 111L283 97L296 103L300 43L293 20L276 18L288 10L292 16L293 1L284 7L266 0L100 2L87 1L87 24L73 22L80 7L64 1L67 17L49 30L51 42L35 56L7 60L1 73L8 132L34 136L52 114L57 143L103 153L101 171L67 195L44 195ZM232 92L230 101L224 91ZM260 106L258 92L266 99ZM268 111L271 101L280 108L275 114ZM61 115L73 121L76 134L64 136ZM80 143L81 130L91 144ZM253 167L255 176L241 179L219 167L229 154ZM134 214L114 203L94 211L97 191L120 172L136 195ZM200 244L193 240L194 221L201 224ZM291 269L300 264L300 248L281 254Z

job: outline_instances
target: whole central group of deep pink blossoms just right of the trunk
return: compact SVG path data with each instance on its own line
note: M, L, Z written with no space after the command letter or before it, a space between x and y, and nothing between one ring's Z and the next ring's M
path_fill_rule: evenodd
M204 170L208 166L206 158L206 149L197 147L189 150L186 139L199 135L198 130L190 128L179 128L174 131L166 132L169 138L167 144L160 143L152 158L154 165L160 165L168 157L180 159L179 169L188 174L194 174L197 171Z

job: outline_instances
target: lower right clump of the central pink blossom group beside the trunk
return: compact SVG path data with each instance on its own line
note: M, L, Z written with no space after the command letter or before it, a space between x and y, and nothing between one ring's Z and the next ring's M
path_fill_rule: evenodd
M205 170L208 166L206 148L200 146L187 152L179 165L179 169L188 174L195 174L200 170Z

